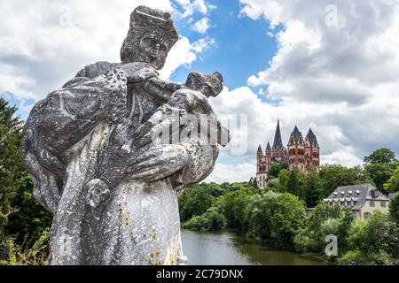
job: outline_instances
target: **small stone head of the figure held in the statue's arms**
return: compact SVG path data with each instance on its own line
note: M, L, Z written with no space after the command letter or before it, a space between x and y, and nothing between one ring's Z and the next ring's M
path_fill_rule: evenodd
M223 90L223 76L219 72L212 74L192 72L188 74L185 85L188 88L199 90L204 96L215 97Z

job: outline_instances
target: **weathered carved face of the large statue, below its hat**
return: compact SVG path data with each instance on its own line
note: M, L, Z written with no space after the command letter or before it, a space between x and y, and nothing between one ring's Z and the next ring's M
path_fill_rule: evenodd
M169 47L167 39L162 35L153 33L144 34L138 42L137 61L154 65L161 69L165 65Z

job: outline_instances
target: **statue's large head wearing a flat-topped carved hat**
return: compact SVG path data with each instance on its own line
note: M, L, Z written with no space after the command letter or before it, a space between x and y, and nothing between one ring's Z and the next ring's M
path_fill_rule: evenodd
M168 12L138 6L130 15L130 28L121 47L121 62L145 62L160 70L178 34Z

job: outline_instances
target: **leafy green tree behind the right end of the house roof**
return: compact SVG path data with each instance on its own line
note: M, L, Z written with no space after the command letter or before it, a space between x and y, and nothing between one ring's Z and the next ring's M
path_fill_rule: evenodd
M391 178L398 164L395 152L390 149L377 149L370 156L364 157L365 170L382 192L385 192L384 184Z

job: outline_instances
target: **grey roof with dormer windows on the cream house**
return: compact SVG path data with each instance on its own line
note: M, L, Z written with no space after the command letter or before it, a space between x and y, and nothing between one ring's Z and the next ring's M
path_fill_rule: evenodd
M347 201L348 206L342 208L350 208L352 210L359 210L366 200L373 201L389 201L387 196L382 195L375 187L370 184L353 185L345 187L337 187L331 195L325 198L325 203L340 203ZM351 202L354 205L351 205Z

